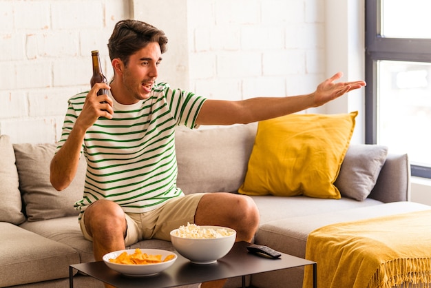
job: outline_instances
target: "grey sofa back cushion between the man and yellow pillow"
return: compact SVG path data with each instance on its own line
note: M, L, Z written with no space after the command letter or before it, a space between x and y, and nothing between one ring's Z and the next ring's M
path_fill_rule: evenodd
M176 130L177 186L185 194L236 192L244 182L257 123Z

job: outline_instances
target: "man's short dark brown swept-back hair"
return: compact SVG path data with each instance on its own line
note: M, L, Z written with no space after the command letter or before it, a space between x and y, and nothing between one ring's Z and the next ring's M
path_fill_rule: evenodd
M124 65L127 65L130 55L145 48L151 42L157 42L161 52L166 52L167 37L162 30L138 20L118 21L107 45L109 58L111 61L119 58Z

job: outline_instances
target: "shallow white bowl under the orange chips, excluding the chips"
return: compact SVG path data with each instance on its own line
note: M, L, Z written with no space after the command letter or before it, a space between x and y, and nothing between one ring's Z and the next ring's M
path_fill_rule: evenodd
M174 254L175 257L172 258L171 260L168 260L162 263L141 264L141 265L118 264L118 263L112 263L109 261L109 259L117 258L124 251L126 251L127 254L134 254L135 249L125 249L125 250L110 252L103 256L103 261L105 261L106 265L109 268L114 269L115 271L118 271L121 274L124 274L126 276L141 277L141 276L151 276L151 275L158 274L161 271L170 267L172 264L174 264L175 260L178 258L178 256L172 251L161 250L161 249L140 249L142 253L146 253L148 255L162 255L162 260L165 259L166 256L171 254Z

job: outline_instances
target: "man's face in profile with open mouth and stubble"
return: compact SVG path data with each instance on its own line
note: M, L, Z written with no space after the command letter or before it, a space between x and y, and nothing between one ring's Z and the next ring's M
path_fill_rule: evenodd
M151 42L129 57L129 62L123 71L123 87L130 103L125 104L149 98L158 76L161 55L158 43Z

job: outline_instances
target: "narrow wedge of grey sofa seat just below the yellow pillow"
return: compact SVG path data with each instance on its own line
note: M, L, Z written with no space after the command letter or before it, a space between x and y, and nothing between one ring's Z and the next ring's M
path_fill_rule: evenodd
M260 212L260 225L274 220L297 216L308 216L335 212L339 210L353 209L381 205L378 200L366 198L357 201L352 198L324 199L307 196L281 197L281 196L251 196Z

